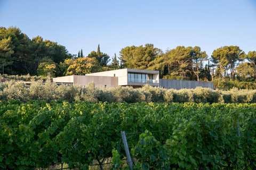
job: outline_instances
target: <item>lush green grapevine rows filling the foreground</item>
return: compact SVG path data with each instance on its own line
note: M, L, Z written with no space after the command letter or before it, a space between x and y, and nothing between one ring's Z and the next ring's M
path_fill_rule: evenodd
M255 169L256 104L0 102L1 169L111 158L129 169Z

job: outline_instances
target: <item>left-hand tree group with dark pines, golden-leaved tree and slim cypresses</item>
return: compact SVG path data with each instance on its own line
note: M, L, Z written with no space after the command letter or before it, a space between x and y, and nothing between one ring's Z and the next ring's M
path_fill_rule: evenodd
M109 56L100 52L99 46L97 53L93 51L85 57L81 49L76 57L58 43L43 40L40 36L29 39L17 27L7 29L0 27L0 73L2 74L30 74L43 77L46 77L47 73L50 73L51 77L80 75L110 70L105 68L108 62Z

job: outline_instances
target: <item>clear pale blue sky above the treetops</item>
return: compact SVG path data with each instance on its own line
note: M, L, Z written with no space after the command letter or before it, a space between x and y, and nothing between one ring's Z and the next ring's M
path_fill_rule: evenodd
M177 46L256 50L256 0L76 1L0 0L0 27L16 26L30 39L113 57L147 43L164 52Z

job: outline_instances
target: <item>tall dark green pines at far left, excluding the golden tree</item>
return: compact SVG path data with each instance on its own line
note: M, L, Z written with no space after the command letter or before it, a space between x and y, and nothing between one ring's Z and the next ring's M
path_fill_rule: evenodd
M4 67L4 73L36 75L41 63L44 63L43 66L53 64L57 71L58 64L71 57L66 47L50 40L43 40L39 36L29 39L19 28L0 27L0 64Z

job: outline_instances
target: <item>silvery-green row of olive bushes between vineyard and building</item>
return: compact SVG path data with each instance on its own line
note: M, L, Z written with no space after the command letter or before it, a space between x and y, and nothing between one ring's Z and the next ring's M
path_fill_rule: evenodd
M123 101L127 103L137 102L157 102L157 103L256 103L256 90L246 90L233 88L229 91L213 90L210 88L197 87L196 89L164 89L151 87L149 85L142 88L132 87L97 88L93 83L87 87L68 86L47 80L31 82L30 86L22 82L4 82L0 84L0 100L51 100L73 101L107 101L115 103Z

